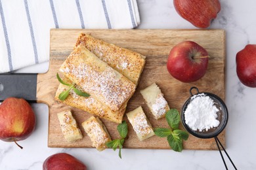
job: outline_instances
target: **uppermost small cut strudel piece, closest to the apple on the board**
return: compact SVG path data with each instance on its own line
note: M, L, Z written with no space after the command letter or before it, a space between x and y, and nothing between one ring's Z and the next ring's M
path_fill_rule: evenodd
M145 99L150 111L154 115L154 118L156 118L156 120L163 118L166 112L169 110L169 105L163 97L163 93L161 93L158 85L154 83L144 90L140 90L140 93Z

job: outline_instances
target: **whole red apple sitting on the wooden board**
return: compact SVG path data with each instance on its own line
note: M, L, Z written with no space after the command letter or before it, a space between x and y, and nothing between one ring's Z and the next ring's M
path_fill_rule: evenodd
M208 58L202 46L193 41L184 41L171 49L167 70L181 82L194 82L205 75Z

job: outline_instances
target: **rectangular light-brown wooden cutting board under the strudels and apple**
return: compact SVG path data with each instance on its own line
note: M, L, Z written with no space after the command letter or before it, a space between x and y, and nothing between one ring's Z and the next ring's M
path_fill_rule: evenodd
M210 92L225 97L225 33L221 29L192 29L192 30L171 30L171 29L129 29L129 30L104 30L104 29L52 29L49 71L37 76L37 101L49 105L49 147L79 147L91 148L91 140L86 135L81 123L91 114L69 107L54 101L54 94L58 88L56 73L63 61L69 56L75 45L79 33L90 33L91 36L102 39L106 42L128 48L146 56L146 65L142 72L139 86L130 99L127 111L133 110L140 105L153 127L168 127L165 118L154 120L146 102L139 93L153 82L161 88L169 106L178 110L182 109L186 99L190 97L188 90L192 86L198 87L200 92ZM193 83L182 83L173 78L166 69L166 62L169 51L173 46L182 41L195 41L203 46L209 53L209 65L207 73L202 79ZM60 124L56 116L57 112L72 109L74 118L83 133L83 139L74 143L65 141ZM124 116L125 120L127 117ZM116 130L117 124L102 119L112 139L119 138ZM166 138L157 136L140 142L129 124L129 138L125 141L125 148L150 148L169 149ZM182 125L180 125L181 128ZM224 144L224 132L219 135L220 141ZM190 150L215 150L217 146L214 139L198 139L190 135L188 141L183 143L184 149Z

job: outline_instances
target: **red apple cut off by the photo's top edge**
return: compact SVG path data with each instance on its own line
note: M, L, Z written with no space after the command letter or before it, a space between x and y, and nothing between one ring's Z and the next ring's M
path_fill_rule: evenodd
M178 14L196 27L209 27L221 10L219 0L173 0Z

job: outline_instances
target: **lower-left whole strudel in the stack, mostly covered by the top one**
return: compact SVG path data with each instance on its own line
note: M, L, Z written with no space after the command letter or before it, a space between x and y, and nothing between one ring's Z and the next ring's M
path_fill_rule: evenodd
M64 76L62 80L68 84L72 84L72 81ZM75 86L75 88L78 88ZM57 101L60 101L58 99L58 95L60 93L68 90L68 86L65 86L64 84L60 84L58 86L58 89L56 91L56 95L54 99ZM62 103L65 103L66 105L70 105L72 107L76 107L78 109L85 110L86 112L89 112L91 114L95 114L96 116L99 116L100 118L104 118L106 120L110 120L112 122L116 122L117 124L121 124L121 121L123 120L123 114L125 113L127 101L124 105L121 106L121 108L117 111L113 111L106 107L106 105L102 105L99 101L97 101L92 96L90 97L83 97L81 95L77 95L77 93L74 92L74 90L70 90L70 94L64 101L60 101Z

